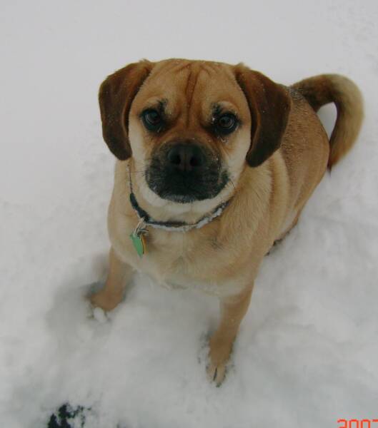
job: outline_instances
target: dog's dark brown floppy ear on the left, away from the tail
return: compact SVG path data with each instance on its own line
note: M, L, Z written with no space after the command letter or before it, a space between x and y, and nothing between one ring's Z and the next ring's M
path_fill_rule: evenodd
M153 63L140 61L121 68L101 83L99 103L102 135L106 144L121 161L131 156L129 143L129 111Z

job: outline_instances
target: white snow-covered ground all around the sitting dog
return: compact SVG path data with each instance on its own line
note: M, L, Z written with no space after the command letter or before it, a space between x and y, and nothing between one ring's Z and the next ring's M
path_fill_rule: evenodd
M377 22L375 0L1 1L1 427L46 427L64 402L91 408L88 428L378 418ZM365 98L357 146L264 260L220 388L205 376L212 298L146 277L107 317L84 298L106 274L114 166L97 88L172 56L282 83L344 73Z

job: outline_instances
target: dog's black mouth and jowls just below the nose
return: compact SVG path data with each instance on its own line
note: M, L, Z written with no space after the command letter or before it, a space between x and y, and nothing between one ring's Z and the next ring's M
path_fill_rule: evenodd
M181 165L179 157L153 156L146 168L145 178L149 188L160 198L176 203L192 203L215 198L229 183L229 174L219 159L204 156L194 165Z

